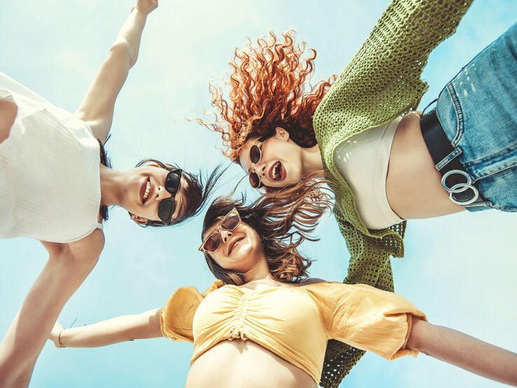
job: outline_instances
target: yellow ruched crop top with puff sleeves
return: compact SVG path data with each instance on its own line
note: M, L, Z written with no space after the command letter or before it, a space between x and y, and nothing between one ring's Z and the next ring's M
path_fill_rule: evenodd
M426 319L395 293L337 282L250 291L217 280L204 293L178 289L163 307L164 337L194 342L191 364L224 340L251 340L319 382L326 342L340 340L385 359L405 349L411 316Z

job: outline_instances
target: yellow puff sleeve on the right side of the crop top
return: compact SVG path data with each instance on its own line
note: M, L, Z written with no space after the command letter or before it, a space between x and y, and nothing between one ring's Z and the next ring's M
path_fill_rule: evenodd
M427 318L406 298L365 284L326 282L314 291L329 339L387 360L418 354L406 342L413 317Z

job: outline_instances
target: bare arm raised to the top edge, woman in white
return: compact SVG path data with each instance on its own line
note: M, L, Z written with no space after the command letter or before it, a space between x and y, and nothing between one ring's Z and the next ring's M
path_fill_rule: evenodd
M111 129L118 92L122 89L129 70L137 62L147 15L156 7L158 0L137 1L75 113L88 123L94 136L103 143Z

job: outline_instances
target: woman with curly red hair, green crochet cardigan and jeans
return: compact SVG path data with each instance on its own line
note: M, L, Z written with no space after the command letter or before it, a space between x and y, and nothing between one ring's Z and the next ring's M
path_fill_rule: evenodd
M517 25L446 85L436 109L413 111L429 53L470 3L393 0L343 73L313 88L315 50L303 59L293 34L270 34L235 50L228 101L211 88L219 118L203 124L251 186L296 195L308 177L332 182L351 254L345 282L392 290L407 219L517 211Z

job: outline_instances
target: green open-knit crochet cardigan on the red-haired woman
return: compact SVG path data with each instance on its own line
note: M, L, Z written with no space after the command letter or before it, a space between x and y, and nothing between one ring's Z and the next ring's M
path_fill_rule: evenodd
M334 149L354 134L416 109L427 90L420 74L429 53L455 32L470 4L471 0L393 0L315 112L316 139L334 183L334 213L350 251L345 283L394 291L390 256L404 256L406 222L382 230L366 228L352 189L334 165ZM320 385L337 387L363 354L329 341Z

